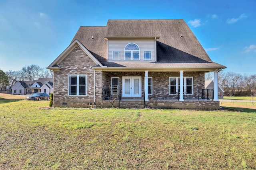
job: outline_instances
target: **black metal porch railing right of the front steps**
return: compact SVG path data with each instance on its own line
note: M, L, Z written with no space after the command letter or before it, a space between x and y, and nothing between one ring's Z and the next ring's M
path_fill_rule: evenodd
M184 89L184 100L213 100L214 91L212 89ZM154 89L148 99L158 98L158 100L179 100L180 92L170 92L169 89Z

